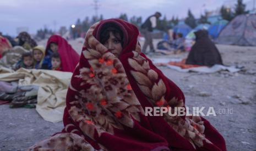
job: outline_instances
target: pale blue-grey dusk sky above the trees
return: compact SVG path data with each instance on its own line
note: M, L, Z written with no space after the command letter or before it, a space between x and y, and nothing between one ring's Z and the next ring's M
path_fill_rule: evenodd
M155 11L166 15L167 19L187 16L188 9L197 18L204 10L216 10L222 4L232 5L237 0L99 0L98 14L104 19L117 18L121 13L142 16L143 21ZM253 0L244 0L247 9L251 9ZM78 18L95 15L93 0L1 0L0 32L17 36L17 27L28 27L29 33L46 26L58 30L60 26L69 27ZM55 23L56 22L56 26Z

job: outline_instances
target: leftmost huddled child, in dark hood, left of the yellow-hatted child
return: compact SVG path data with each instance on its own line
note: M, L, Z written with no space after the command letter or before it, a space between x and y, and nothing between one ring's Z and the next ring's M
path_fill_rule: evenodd
M21 56L21 60L17 62L15 65L15 70L19 68L32 69L34 67L34 61L32 57L32 53L23 53Z

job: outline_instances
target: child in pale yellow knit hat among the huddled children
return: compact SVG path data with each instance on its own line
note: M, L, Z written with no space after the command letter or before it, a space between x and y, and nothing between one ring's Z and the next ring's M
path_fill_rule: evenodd
M34 58L34 68L40 69L43 62L43 57L45 56L45 47L42 45L37 45L32 49L32 55Z

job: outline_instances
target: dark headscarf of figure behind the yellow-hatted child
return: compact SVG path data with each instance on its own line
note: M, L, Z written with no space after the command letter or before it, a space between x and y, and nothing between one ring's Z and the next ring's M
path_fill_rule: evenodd
M17 37L19 39L19 45L25 48L26 50L30 50L33 47L36 47L37 44L34 39L32 39L27 32L19 33Z

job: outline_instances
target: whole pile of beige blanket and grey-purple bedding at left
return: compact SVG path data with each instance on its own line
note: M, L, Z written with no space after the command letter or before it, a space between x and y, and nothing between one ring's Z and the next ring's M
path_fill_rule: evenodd
M71 72L20 68L0 68L0 104L36 107L41 117L52 123L62 121Z

